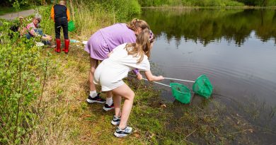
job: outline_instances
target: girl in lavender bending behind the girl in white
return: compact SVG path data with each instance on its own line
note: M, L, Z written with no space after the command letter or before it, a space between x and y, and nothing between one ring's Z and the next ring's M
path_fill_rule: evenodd
M136 36L144 29L149 29L146 21L134 18L129 24L115 23L106 28L98 30L89 38L85 50L90 54L91 70L89 73L90 94L88 95L88 103L105 103L103 110L108 111L114 108L112 93L108 91L106 102L96 92L95 84L93 83L94 72L98 66L99 60L102 61L108 58L108 54L118 45L126 42L133 43L136 41ZM141 74L137 73L137 79L142 79Z

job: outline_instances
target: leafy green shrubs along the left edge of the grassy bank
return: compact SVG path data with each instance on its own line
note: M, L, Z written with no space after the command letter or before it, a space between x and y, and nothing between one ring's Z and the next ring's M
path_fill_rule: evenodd
M44 76L35 40L19 37L11 25L2 21L0 27L0 144L22 144L33 129L37 111L31 104Z

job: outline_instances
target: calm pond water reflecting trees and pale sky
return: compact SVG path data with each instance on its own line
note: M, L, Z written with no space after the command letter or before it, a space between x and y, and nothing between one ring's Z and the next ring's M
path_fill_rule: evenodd
M140 17L156 35L154 74L190 81L205 74L214 86L212 100L276 134L274 9L149 8ZM170 88L157 87L163 88L163 100L173 101ZM268 142L275 143L275 138Z

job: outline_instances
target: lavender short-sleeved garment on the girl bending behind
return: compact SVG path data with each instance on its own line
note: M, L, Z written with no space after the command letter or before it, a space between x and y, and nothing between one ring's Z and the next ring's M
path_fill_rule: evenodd
M94 33L89 38L85 50L91 58L103 60L118 45L135 41L136 36L133 30L127 28L125 23L115 23Z

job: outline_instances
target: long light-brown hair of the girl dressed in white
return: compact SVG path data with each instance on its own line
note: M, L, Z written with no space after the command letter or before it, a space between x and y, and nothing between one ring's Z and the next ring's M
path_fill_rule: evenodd
M149 29L144 29L137 36L135 43L130 43L125 46L127 54L139 57L137 63L142 62L144 54L149 58L151 55L151 43L154 42L155 36Z

